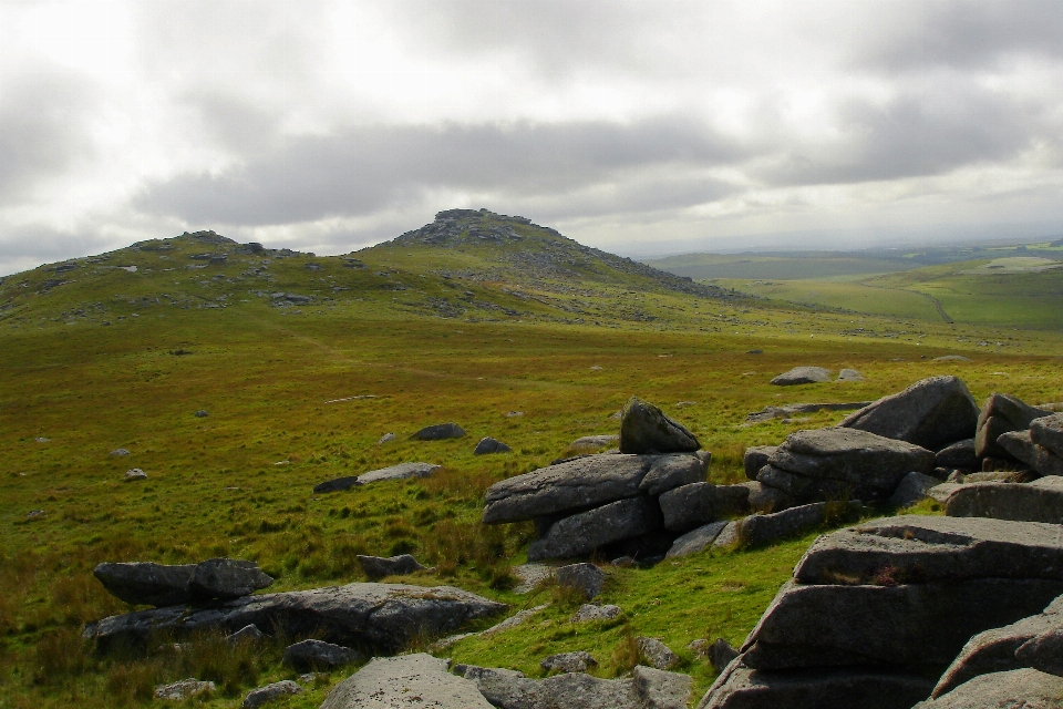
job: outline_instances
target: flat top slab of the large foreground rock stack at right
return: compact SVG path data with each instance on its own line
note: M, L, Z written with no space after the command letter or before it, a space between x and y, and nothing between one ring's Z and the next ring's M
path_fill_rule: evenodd
M821 536L794 569L802 584L1042 578L1063 580L1054 524L902 515Z

